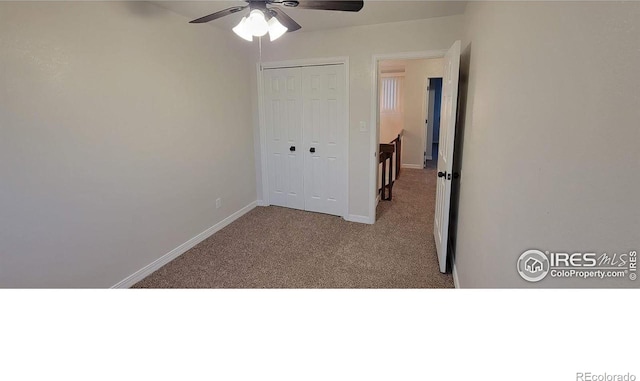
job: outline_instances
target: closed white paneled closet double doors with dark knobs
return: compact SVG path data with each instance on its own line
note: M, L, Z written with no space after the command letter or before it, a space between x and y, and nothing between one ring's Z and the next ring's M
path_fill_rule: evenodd
M269 202L346 214L344 65L265 69Z

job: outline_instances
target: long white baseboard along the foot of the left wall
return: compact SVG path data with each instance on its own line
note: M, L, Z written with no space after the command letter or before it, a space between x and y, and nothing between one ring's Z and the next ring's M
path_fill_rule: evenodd
M150 264L146 265L145 267L141 268L135 273L129 275L125 279L113 285L111 288L129 288L133 286L134 284L138 283L139 281L149 276L154 271L158 270L160 267L166 265L167 263L181 256L182 254L186 253L189 249L193 248L195 245L211 237L217 231L222 230L222 228L224 228L225 226L229 225L230 223L237 220L238 218L244 216L245 214L250 212L253 208L255 208L257 205L258 205L258 201L254 201L250 203L249 205L238 210L237 212L233 213L232 215L225 218L224 220L218 222L217 224L213 225L212 227L208 228L207 230L203 231L197 236L191 238L190 240L183 243L182 245L171 250L170 252L163 255L162 257L156 259L155 261L151 262Z

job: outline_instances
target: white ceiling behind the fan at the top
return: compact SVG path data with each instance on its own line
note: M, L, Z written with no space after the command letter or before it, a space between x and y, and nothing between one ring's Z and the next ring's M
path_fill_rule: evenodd
M218 0L152 1L152 3L184 15L189 19L196 19L231 6L246 4L244 1ZM364 8L357 13L283 8L289 16L302 25L302 31L312 31L452 16L464 13L466 5L466 1L365 0ZM211 21L209 24L228 30L235 26L245 13L247 12L238 12Z

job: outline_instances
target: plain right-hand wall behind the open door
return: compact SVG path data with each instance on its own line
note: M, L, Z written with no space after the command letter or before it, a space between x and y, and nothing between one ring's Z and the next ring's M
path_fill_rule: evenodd
M460 285L638 287L515 268L531 248L640 248L640 3L472 2L465 17Z

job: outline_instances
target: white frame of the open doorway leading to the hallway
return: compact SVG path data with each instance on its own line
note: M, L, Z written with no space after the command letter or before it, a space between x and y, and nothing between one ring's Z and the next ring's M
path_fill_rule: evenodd
M371 127L371 135L369 139L369 148L371 152L371 161L369 167L369 223L376 221L376 198L378 197L378 147L380 145L380 102L378 100L378 65L384 60L413 60L442 58L447 53L447 49L443 50L425 50L418 52L403 52L389 54L374 54L372 56L372 83L371 83L371 118L369 125ZM423 102L424 103L424 102Z

